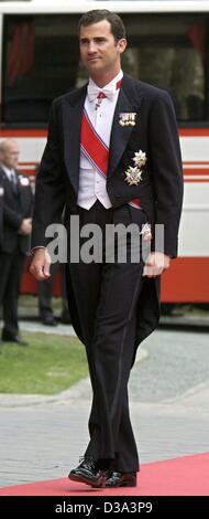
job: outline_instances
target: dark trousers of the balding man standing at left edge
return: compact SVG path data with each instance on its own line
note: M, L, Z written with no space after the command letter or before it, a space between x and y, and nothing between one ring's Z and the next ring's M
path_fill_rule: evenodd
M18 335L18 297L24 255L16 248L12 254L0 253L0 306L3 308L2 337Z

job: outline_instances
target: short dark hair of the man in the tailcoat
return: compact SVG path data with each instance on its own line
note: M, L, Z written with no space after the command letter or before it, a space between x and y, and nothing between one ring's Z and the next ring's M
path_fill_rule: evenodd
M125 38L125 28L121 18L116 12L108 11L108 9L92 9L92 11L85 12L78 22L78 31L80 32L81 25L91 25L92 23L98 23L102 20L108 20L110 23L111 33L114 36L116 42Z

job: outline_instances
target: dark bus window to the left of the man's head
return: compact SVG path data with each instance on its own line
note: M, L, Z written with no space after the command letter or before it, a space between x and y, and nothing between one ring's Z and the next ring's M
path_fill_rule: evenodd
M6 17L3 119L46 124L54 97L74 88L79 49L77 19L64 15Z

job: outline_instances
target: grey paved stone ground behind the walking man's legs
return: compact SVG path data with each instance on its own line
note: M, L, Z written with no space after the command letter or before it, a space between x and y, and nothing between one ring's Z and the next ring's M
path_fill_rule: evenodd
M90 394L84 380L55 396L0 395L1 486L65 477L77 465ZM157 330L144 341L130 400L142 463L209 451L208 333Z

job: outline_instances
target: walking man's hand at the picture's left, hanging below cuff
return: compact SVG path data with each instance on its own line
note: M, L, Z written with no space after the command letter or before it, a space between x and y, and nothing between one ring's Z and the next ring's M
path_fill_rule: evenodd
M42 282L51 277L51 256L45 247L38 247L34 250L34 256L31 262L29 272L37 279Z

